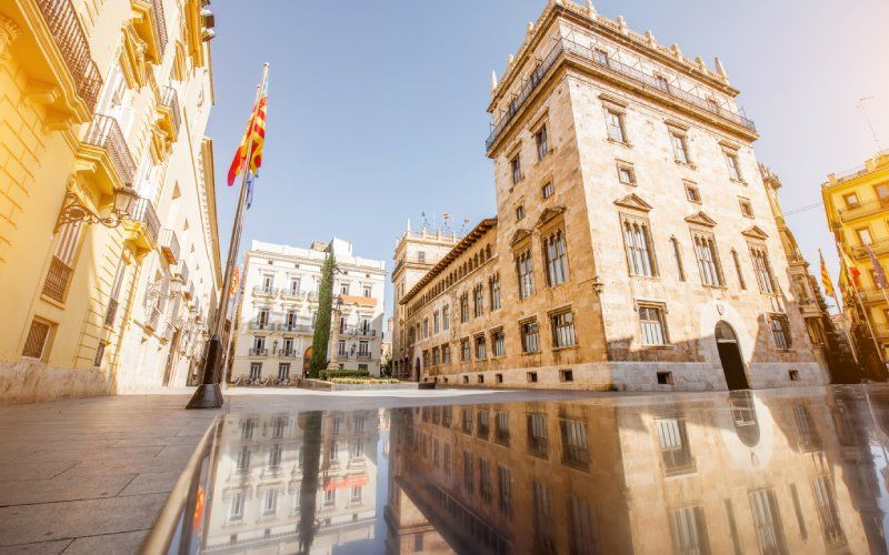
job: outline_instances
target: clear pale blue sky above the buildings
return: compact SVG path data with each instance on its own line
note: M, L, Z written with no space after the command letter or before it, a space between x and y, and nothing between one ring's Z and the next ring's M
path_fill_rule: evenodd
M885 0L595 3L689 58L722 60L760 131L757 155L781 178L786 211L820 202L828 173L877 150L859 98L873 97L869 114L889 148ZM336 234L391 269L408 218L417 229L421 212L460 222L492 215L490 72L502 73L545 4L214 0L208 135L223 260L237 200L224 176L263 61L271 64L267 143L241 250L253 239L307 246ZM836 260L820 208L788 221L810 262L819 248Z

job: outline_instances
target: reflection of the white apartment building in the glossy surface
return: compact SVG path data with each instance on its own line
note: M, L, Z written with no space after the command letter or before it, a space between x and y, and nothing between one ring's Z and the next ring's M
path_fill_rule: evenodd
M373 537L377 411L227 416L207 552L330 553Z

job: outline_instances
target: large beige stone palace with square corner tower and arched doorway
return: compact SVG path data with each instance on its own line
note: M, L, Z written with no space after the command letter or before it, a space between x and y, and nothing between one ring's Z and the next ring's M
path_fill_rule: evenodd
M621 390L822 383L756 128L715 65L591 4L550 1L493 78L497 215L396 287L396 374ZM397 269L408 262L397 249Z

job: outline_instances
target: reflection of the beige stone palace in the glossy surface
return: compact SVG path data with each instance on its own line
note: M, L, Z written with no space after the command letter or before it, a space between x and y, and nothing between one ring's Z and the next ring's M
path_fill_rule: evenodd
M397 411L387 545L880 553L882 513L849 475L836 413L786 392Z

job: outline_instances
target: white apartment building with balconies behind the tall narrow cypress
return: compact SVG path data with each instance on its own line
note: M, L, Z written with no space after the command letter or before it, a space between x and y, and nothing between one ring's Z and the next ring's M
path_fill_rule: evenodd
M343 370L380 373L383 261L352 254L338 238L308 249L253 241L244 254L231 379L291 383L311 361L321 266L332 250L338 271L328 357Z

